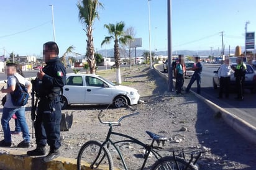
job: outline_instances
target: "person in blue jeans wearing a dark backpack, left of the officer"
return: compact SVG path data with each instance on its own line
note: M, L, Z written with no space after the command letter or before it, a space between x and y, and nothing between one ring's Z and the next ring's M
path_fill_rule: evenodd
M27 81L24 77L17 73L17 65L14 63L7 63L5 72L7 74L7 88L2 87L1 92L7 93L4 109L2 110L2 130L4 131L4 140L0 141L0 146L10 147L12 145L11 130L9 127L9 121L12 115L16 115L19 127L21 127L23 141L17 145L19 148L29 148L30 135L29 127L25 121L25 106L14 106L12 104L11 92L16 89L17 80L19 83L24 84L27 87L27 91L30 92L32 86L30 81ZM16 79L17 78L17 79Z

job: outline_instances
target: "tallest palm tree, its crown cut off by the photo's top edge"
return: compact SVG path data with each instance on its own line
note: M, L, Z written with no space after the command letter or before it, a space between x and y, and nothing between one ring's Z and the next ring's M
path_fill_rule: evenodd
M94 58L93 22L95 18L99 19L97 8L103 7L103 5L98 0L83 0L78 2L76 6L79 9L79 19L86 26L86 29L84 29L87 36L86 56L90 73L95 74L96 61Z

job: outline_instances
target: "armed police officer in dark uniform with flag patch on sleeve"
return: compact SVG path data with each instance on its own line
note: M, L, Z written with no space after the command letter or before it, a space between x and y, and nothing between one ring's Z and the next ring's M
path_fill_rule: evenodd
M66 81L66 69L58 58L58 45L55 42L43 44L43 59L46 66L37 73L33 86L39 98L35 117L35 141L37 148L27 151L29 156L45 154L45 145L50 152L43 161L49 162L60 156L60 121L62 119L62 87Z

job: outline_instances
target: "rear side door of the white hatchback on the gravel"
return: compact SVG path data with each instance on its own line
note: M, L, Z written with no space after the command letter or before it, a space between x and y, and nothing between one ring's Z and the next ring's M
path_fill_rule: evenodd
M85 103L85 86L82 76L69 76L66 79L66 85L63 87L63 95L70 104Z

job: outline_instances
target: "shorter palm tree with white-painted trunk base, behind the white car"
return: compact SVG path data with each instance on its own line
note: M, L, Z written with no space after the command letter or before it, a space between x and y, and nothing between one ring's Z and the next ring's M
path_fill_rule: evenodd
M114 24L105 24L104 27L108 30L109 35L108 37L105 37L103 42L101 43L101 46L104 43L109 43L112 39L114 40L114 58L116 63L116 82L118 84L122 84L121 81L121 72L120 72L120 53L119 53L119 43L126 44L128 40L132 40L132 37L130 35L126 35L124 32L124 22L118 22L116 25Z

